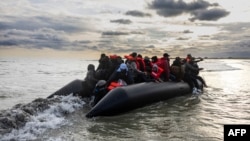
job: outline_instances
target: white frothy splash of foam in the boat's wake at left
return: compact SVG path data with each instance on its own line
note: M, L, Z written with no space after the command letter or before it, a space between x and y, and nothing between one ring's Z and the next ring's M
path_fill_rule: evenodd
M7 113L9 113L10 115L9 119L11 118L12 120L16 119L16 121L14 121L15 123L20 122L20 120L16 118L18 114L23 115L23 120L21 121L23 122L26 121L26 123L25 124L23 123L23 126L21 124L18 124L18 125L16 124L16 126L12 127L11 132L4 134L2 139L0 140L3 140L3 141L5 140L35 140L37 136L44 133L48 129L56 129L56 128L61 127L62 125L68 124L68 121L65 119L65 116L74 112L75 110L79 108L82 108L83 105L85 104L80 98L74 97L72 94L69 96L60 96L60 97L56 97L54 99L49 99L49 100L46 99L44 101L53 101L53 102L47 102L48 104L47 108L46 106L42 107L41 103L33 104L33 106L35 105L34 106L35 109L39 109L39 108L44 109L44 110L38 110L37 113L33 111L33 115L28 114L27 112L23 111L21 107L24 107L24 106L20 106L19 108L16 108L15 110L12 109L11 110L13 112L12 114L10 114L11 111L7 111ZM35 103L35 102L32 102L32 103ZM34 107L29 107L29 108L32 109ZM8 126L8 125L6 125L5 127L11 128L11 126Z

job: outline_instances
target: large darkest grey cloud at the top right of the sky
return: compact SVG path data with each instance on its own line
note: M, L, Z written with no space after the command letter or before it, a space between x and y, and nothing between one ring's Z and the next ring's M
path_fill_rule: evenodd
M183 13L189 13L194 20L218 20L229 14L223 9L208 9L211 7L219 6L218 3L209 3L207 1L199 0L186 3L183 0L154 0L148 4L150 9L156 10L157 14L163 17L179 16Z

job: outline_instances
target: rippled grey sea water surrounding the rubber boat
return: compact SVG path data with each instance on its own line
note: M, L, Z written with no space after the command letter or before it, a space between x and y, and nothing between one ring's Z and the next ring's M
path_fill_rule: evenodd
M172 61L171 61L172 62ZM45 99L97 61L51 58L0 58L0 110ZM207 59L199 63L208 88L111 117L87 119L89 107L72 95L30 116L0 140L51 141L221 141L224 124L250 122L250 60ZM15 109L15 108L14 108ZM18 113L18 109L14 113Z

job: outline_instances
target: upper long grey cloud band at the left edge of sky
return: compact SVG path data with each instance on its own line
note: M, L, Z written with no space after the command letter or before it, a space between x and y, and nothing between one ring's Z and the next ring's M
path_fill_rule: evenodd
M54 16L35 16L35 17L4 17L9 22L0 21L0 30L38 30L41 28L51 28L67 33L75 33L88 30L87 22L74 17L54 17ZM84 26L79 26L82 24Z

